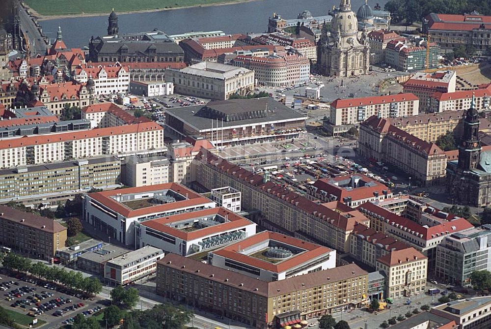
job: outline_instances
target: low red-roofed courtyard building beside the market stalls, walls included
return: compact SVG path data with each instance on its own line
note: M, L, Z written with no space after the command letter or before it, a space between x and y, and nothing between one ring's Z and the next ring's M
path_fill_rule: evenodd
M392 197L392 192L384 184L365 175L317 179L307 189L311 200L339 201L349 207Z

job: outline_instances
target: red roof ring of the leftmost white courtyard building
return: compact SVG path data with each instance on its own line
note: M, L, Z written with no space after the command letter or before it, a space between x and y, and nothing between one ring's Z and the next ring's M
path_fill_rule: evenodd
M96 129L96 130L100 130L100 129ZM164 189L170 189L176 193L184 195L187 197L187 199L183 201L176 201L176 202L164 204L164 205L156 205L156 206L132 210L124 206L123 204L117 202L113 198L111 198L111 196L114 196L118 193L122 193L122 194L141 193L141 192L159 191ZM95 193L89 193L88 196L96 201L99 201L105 207L108 207L109 209L127 218L141 216L141 215L155 213L155 212L170 211L172 209L199 206L211 202L211 200L195 193L189 188L178 183L165 183L165 184L157 184L157 185L149 185L149 186L130 187L130 188L125 188L124 191L109 190L109 191L95 192Z

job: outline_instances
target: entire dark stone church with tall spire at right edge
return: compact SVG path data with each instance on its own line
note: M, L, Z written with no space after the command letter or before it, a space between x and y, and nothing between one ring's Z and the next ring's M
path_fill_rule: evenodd
M447 162L447 192L452 204L491 205L491 151L483 151L474 96L464 119L459 159Z

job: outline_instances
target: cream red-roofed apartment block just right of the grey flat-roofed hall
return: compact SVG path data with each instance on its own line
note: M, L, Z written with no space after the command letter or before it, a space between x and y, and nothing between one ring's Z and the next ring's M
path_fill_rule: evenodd
M324 127L327 133L339 134L358 128L360 122L371 116L380 118L410 117L418 114L419 98L412 93L336 99L330 104L329 120Z

